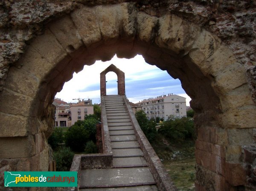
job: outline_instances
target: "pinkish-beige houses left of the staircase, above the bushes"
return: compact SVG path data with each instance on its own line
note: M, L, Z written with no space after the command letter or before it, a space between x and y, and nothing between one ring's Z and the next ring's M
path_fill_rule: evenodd
M86 115L93 114L92 100L79 100L78 103L67 103L55 98L55 126L70 127L77 120L84 120Z

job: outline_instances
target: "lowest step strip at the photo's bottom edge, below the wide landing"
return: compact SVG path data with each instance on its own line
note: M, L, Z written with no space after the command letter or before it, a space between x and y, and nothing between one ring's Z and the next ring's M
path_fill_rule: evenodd
M158 191L155 185L143 185L134 187L120 187L120 188L88 188L79 189L80 191Z

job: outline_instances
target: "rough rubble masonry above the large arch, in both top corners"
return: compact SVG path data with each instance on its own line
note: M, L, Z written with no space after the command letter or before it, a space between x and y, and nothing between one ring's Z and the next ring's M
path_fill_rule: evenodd
M3 0L0 2L0 91L9 66L23 54L26 45L44 32L44 24L76 9L129 0ZM256 65L256 2L253 0L138 0L136 6L151 16L166 11L216 34L247 68ZM251 70L250 70L251 71ZM255 75L255 69L253 71ZM248 75L248 80L255 79ZM250 86L255 97L256 88Z

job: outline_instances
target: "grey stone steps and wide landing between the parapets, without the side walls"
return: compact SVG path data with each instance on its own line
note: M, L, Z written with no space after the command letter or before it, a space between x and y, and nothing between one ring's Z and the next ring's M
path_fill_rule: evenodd
M105 96L113 168L81 170L81 191L157 191L122 96Z

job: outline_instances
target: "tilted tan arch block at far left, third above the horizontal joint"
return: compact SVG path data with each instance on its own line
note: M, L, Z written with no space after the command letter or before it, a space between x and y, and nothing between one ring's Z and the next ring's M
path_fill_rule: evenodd
M39 80L35 75L16 67L9 69L6 88L29 97L34 97L38 86Z

